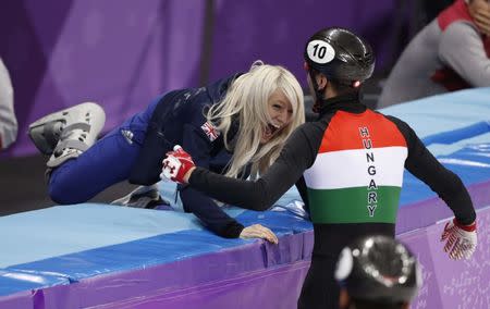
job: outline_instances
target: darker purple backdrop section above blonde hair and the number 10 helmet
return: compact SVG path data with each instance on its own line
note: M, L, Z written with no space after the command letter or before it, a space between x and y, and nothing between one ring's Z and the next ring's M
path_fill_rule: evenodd
M210 77L248 67L260 59L285 65L306 85L305 42L315 32L331 26L346 27L365 37L381 69L391 52L395 5L391 0L217 0Z

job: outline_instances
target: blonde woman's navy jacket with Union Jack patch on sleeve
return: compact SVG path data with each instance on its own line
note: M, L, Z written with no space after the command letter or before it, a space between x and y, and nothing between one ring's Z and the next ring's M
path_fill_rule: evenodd
M174 145L182 145L196 165L223 173L231 153L224 148L223 136L207 124L205 113L224 97L238 75L207 87L175 90L162 96L151 115L130 182L140 185L157 183L164 154ZM238 124L234 123L232 127L229 138L236 134ZM244 226L230 218L211 198L188 186L179 186L179 191L184 210L193 212L209 230L228 238L240 236Z

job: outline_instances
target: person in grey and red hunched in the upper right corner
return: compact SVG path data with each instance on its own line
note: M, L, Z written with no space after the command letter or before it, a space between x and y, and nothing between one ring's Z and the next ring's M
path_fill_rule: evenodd
M377 108L490 86L490 3L456 0L408 44Z

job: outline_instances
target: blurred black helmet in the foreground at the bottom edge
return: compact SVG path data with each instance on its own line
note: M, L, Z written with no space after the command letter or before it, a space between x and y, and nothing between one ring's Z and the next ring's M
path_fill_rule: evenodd
M354 299L387 304L411 302L421 285L419 265L408 248L381 235L345 247L335 279Z

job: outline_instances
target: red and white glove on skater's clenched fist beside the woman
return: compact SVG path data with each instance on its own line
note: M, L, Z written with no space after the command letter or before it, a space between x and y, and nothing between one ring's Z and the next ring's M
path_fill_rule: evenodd
M191 169L196 168L191 154L185 152L181 146L175 145L173 151L167 152L167 158L163 160L163 168L160 178L163 181L172 181L180 184L185 184L184 176Z

